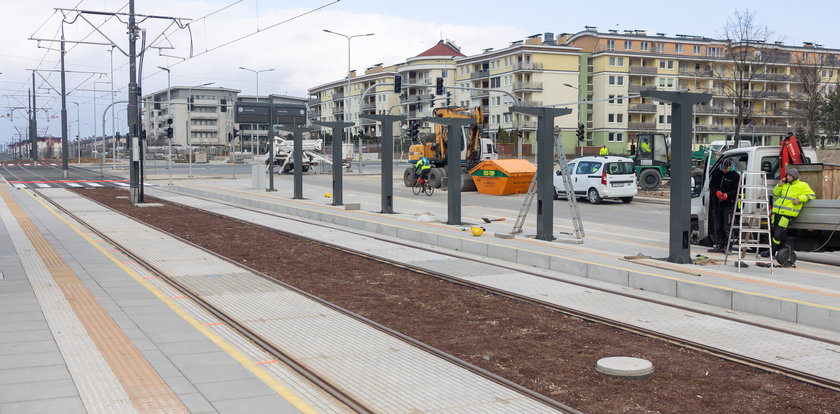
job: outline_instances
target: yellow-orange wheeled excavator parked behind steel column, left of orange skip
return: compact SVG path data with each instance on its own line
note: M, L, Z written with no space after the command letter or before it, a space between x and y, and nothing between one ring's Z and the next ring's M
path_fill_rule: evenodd
M462 141L461 151L461 174L467 174L467 171L472 169L484 160L495 160L499 158L496 152L496 146L489 138L481 138L481 130L484 127L484 113L480 107L470 108L437 108L432 114L441 118L473 118L475 122L464 127L464 140ZM409 147L408 160L410 165L406 168L403 174L403 181L406 187L414 186L417 181L417 174L414 169L414 163L422 157L429 159L432 165L429 171L429 183L435 187L441 187L447 180L446 176L446 134L447 127L440 124L435 124L435 135L433 142L420 142L418 139ZM462 180L461 191L475 191L475 184L472 178L467 175Z

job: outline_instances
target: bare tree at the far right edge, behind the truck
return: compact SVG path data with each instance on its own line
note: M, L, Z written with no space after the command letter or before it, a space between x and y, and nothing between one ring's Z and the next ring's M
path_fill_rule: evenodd
M806 43L807 48L813 46ZM816 148L820 107L826 92L830 90L834 71L838 69L837 55L814 47L794 55L793 61L800 93L796 96L797 107L791 108L791 114L805 123L808 142L812 148Z

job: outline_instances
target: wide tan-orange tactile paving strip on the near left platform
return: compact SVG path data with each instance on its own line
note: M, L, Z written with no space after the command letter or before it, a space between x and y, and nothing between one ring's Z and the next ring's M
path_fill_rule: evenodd
M5 186L0 186L0 196L29 238L35 252L41 256L56 286L122 384L134 407L140 413L189 413L178 396L6 192Z

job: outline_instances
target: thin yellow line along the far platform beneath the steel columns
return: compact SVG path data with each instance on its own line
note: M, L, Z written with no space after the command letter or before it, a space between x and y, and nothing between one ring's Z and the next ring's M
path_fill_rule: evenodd
M214 190L229 191L229 192L234 192L234 193L239 193L239 194L247 194L249 196L253 196L252 193L249 193L249 192L246 192L246 191L239 191L239 190L233 190L233 189L222 188L222 187L214 187L214 186L203 185L203 184L199 184L198 186L199 187L211 188L211 189L214 189ZM269 199L278 200L278 201L283 201L283 202L287 201L287 199L274 197L274 196L270 196L270 195L265 195L265 196L260 196L260 197L269 198ZM253 201L264 201L264 200L259 200L259 199L255 199L255 198L250 198L250 197L243 197L243 198L253 200ZM317 206L317 207L333 207L333 208L337 209L337 207L334 207L334 206L324 206L322 204L309 203L309 202L301 201L301 200L295 200L294 203L296 203L296 204L297 203L309 204L309 205ZM367 214L367 212L364 212L364 211L362 211L362 213ZM351 218L353 218L354 220L364 221L364 222L368 222L368 223L383 224L382 222L379 222L379 221L366 220L364 218L359 218L359 217L351 217ZM401 220L398 217L395 217L395 218L392 218L392 219L393 220ZM428 234L437 234L437 233L432 233L432 232L425 232L422 229L417 229L417 228L414 228L414 227L405 227L405 226L400 226L400 225L395 225L395 224L389 224L389 225L392 226L392 227L398 227L398 228L405 229L405 230L424 232L424 233L428 233ZM466 238L466 237L458 237L458 236L448 236L448 237L454 237L454 238L458 238L458 239L461 239L461 240L472 240L471 238ZM522 241L530 242L530 243L537 243L536 241L526 240L526 239L523 239ZM492 243L492 242L484 242L484 243L487 244L487 245L490 245L490 246L511 248L510 246L507 246L507 245L502 245L502 244L497 244L497 243ZM638 273L638 274L643 274L643 275L648 275L648 276L654 276L654 277L658 277L658 278L674 280L674 281L677 281L677 282L690 283L690 284L698 285L698 286L711 287L711 288L715 288L715 289L726 290L726 291L729 291L729 292L743 293L743 294L746 294L746 295L752 295L752 296L758 296L758 297L763 297L763 298L768 298L768 299L781 300L783 302L790 302L790 303L796 303L796 304L800 304L800 305L808 305L808 306L814 306L814 307L823 308L823 309L840 311L840 308L834 307L834 306L827 306L827 305L821 305L821 304L818 304L818 303L805 302L805 301L796 300L796 299L784 298L784 297L781 297L781 296L767 295L767 294L763 294L763 293L751 292L751 291L731 288L731 287L727 287L727 286L715 285L715 284L711 284L711 283L697 282L697 281L694 281L694 280L683 279L683 278L679 278L679 277L676 277L676 276L668 276L668 275L663 275L663 274L658 274L658 273L645 272L645 271L641 271L641 270L628 269L628 268L624 268L624 267L620 267L620 266L608 265L608 264L592 262L592 261L588 261L588 260L581 260L581 259L575 259L575 258L571 258L571 257L558 256L558 255L555 255L555 254L545 253L545 252L536 251L536 250L528 250L528 249L521 249L521 248L516 248L516 249L519 250L519 251L523 251L523 252L534 253L534 254L550 256L550 257L556 257L558 259L571 260L571 261L578 262L578 263L586 263L586 264L590 264L590 265L597 265L597 266L602 266L602 267L606 267L606 268L609 268L609 269L623 270L623 271L627 271L627 272L633 272L633 273ZM603 254L603 255L605 255L605 254ZM614 258L614 256L608 256L608 257ZM776 286L773 286L773 287L778 287L778 288L785 289L785 290L797 290L796 287L791 287L791 286L786 286L786 285L776 285Z

